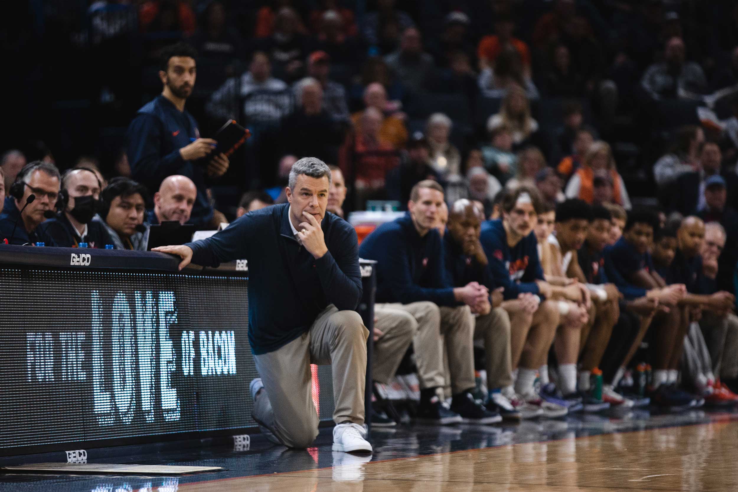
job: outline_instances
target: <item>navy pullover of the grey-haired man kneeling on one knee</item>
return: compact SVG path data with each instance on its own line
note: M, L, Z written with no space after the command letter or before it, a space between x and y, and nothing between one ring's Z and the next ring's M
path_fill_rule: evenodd
M197 265L248 260L249 343L256 355L308 331L329 304L339 310L358 305L362 275L356 231L331 213L321 227L328 252L318 260L292 236L289 204L249 212L212 237L187 243Z

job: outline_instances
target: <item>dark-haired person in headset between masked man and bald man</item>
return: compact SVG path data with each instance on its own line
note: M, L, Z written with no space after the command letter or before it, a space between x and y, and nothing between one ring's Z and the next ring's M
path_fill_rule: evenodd
M148 224L144 224L148 190L129 178L113 178L100 193L100 215L92 219L103 225L115 249L146 251Z

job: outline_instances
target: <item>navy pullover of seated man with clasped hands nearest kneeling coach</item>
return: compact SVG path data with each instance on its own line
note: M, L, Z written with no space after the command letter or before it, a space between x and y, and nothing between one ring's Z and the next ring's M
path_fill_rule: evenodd
M421 238L409 214L377 227L362 242L359 254L379 262L376 302L459 304L445 274L441 235L431 229Z

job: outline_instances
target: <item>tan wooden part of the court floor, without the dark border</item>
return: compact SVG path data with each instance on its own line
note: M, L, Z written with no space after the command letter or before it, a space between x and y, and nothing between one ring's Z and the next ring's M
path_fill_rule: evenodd
M738 491L738 422L602 434L182 483L179 491Z

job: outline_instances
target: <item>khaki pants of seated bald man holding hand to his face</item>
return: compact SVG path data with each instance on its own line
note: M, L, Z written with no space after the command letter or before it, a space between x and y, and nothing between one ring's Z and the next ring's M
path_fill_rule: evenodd
M510 316L503 308L494 308L484 316L477 316L475 340L484 340L484 368L487 388L497 389L512 384L510 353Z

